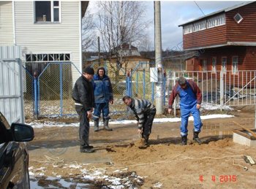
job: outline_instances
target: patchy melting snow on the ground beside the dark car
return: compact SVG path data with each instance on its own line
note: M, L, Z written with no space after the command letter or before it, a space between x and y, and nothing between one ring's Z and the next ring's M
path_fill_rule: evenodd
M106 174L105 169L85 169L86 165L65 164L62 169L77 169L79 174L69 174L69 178L63 178L61 175L48 177L44 174L45 167L34 169L29 167L29 177L31 188L138 188L143 185L143 177L138 176L134 171L127 169L117 169L112 174ZM159 188L161 183L157 183Z

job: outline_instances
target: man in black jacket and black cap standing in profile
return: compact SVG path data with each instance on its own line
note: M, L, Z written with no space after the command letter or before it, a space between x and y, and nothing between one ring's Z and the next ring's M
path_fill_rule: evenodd
M94 77L94 69L86 67L83 74L75 82L72 97L75 101L75 110L78 112L80 153L94 153L93 146L89 145L89 119L94 107L94 88L91 80Z

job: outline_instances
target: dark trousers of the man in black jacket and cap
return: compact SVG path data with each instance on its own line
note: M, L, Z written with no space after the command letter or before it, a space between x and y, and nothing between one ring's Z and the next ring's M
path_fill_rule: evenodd
M76 112L79 115L79 139L80 139L80 147L87 147L89 146L89 119L87 117L87 112L83 109L82 106L75 106Z

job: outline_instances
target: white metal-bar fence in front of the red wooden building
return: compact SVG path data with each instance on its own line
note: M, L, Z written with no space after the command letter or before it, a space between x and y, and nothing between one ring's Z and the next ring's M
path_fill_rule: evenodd
M169 98L178 77L186 77L197 83L202 92L203 107L245 106L256 104L256 71L197 71L167 72L167 96ZM167 104L165 104L167 107ZM179 107L178 99L176 108Z

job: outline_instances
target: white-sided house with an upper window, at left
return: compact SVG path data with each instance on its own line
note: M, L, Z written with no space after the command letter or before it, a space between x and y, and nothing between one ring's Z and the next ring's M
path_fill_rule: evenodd
M67 59L81 70L81 4L81 1L0 1L0 46L20 46L24 62L28 55L69 55ZM46 13L42 9L47 9ZM79 76L72 66L73 82Z

